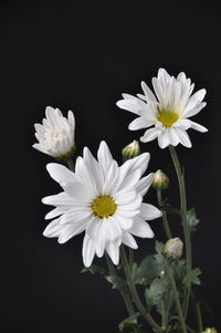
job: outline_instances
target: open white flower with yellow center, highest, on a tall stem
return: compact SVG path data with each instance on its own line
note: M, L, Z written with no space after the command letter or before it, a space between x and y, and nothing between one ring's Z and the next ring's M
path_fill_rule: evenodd
M158 137L160 148L168 145L177 146L179 143L186 147L191 147L188 128L199 132L208 129L189 117L198 114L207 103L202 102L206 90L192 91L194 84L185 73L179 73L176 77L170 76L166 70L159 69L158 76L152 79L155 94L141 82L145 95L136 96L123 94L124 100L117 102L117 106L137 114L139 117L129 124L130 131L148 128L140 137L144 143Z

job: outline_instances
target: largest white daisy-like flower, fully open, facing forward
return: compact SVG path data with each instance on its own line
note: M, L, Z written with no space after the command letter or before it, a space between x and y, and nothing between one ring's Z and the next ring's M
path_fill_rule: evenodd
M57 237L64 243L85 230L83 261L90 267L94 256L108 253L115 264L119 261L119 246L133 249L137 243L131 235L152 238L146 222L161 216L143 196L152 181L152 174L143 177L149 154L145 153L118 167L105 142L97 153L98 162L87 147L76 159L75 173L60 164L48 164L51 177L64 191L42 201L56 208L45 218L55 218L44 230L45 237Z

